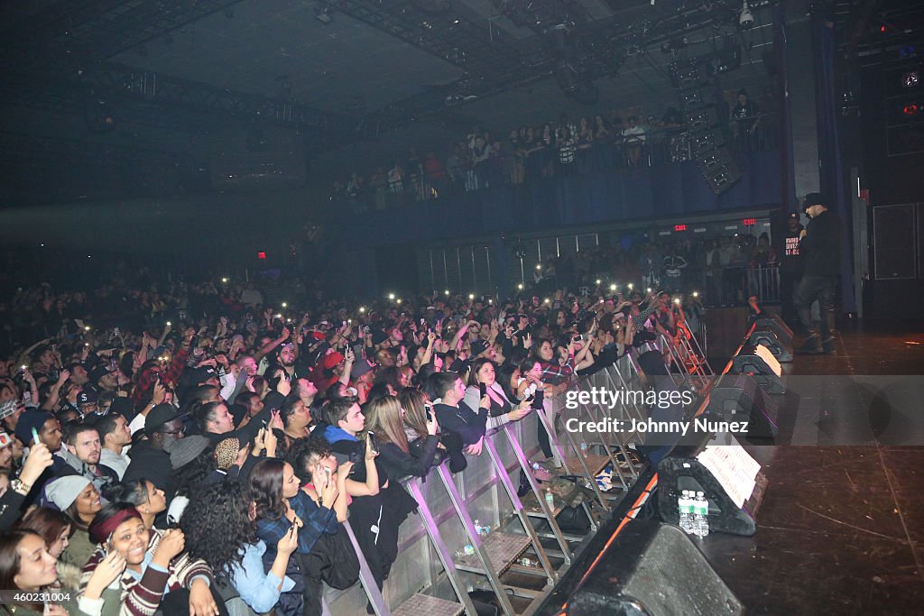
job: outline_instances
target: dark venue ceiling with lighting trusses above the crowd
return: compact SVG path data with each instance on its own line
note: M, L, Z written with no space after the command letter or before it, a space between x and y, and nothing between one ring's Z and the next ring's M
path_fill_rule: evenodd
M723 85L760 92L773 15L761 4L741 30L739 0L7 0L0 199L205 189L234 136L282 134L328 176L473 126L661 115L675 59L662 45L681 37L689 56L740 44ZM595 103L565 96L553 78L565 60Z

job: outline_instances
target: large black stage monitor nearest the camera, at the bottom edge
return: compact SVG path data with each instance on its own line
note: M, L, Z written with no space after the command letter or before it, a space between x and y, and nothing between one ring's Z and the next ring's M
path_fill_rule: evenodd
M676 526L632 520L568 601L568 616L733 616L744 605Z

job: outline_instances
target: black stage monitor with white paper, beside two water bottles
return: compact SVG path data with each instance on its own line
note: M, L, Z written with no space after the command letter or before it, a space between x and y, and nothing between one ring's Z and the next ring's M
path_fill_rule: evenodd
M706 452L712 445L714 452ZM724 481L740 482L748 469L753 474L757 462L728 432L718 434L699 447L681 446L658 464L658 510L664 522L680 524L677 499L685 489L701 491L709 501L710 532L750 537L757 532L757 513L767 489L767 477L759 469L753 484L735 483L742 504L738 505L723 486ZM716 472L710 470L713 468ZM744 491L747 490L748 491Z

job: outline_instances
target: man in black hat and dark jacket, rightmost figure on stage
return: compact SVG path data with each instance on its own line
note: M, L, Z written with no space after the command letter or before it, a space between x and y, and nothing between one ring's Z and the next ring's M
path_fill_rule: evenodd
M803 211L811 219L799 249L805 271L796 287L796 314L808 332L799 353L833 353L834 292L841 273L841 220L828 210L817 192L806 195ZM821 324L811 320L811 304L821 305Z

